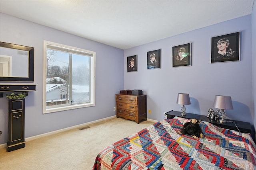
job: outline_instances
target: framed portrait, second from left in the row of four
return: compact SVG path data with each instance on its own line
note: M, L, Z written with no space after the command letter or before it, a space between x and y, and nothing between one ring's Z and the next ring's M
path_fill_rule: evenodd
M160 49L148 51L148 69L160 68Z

